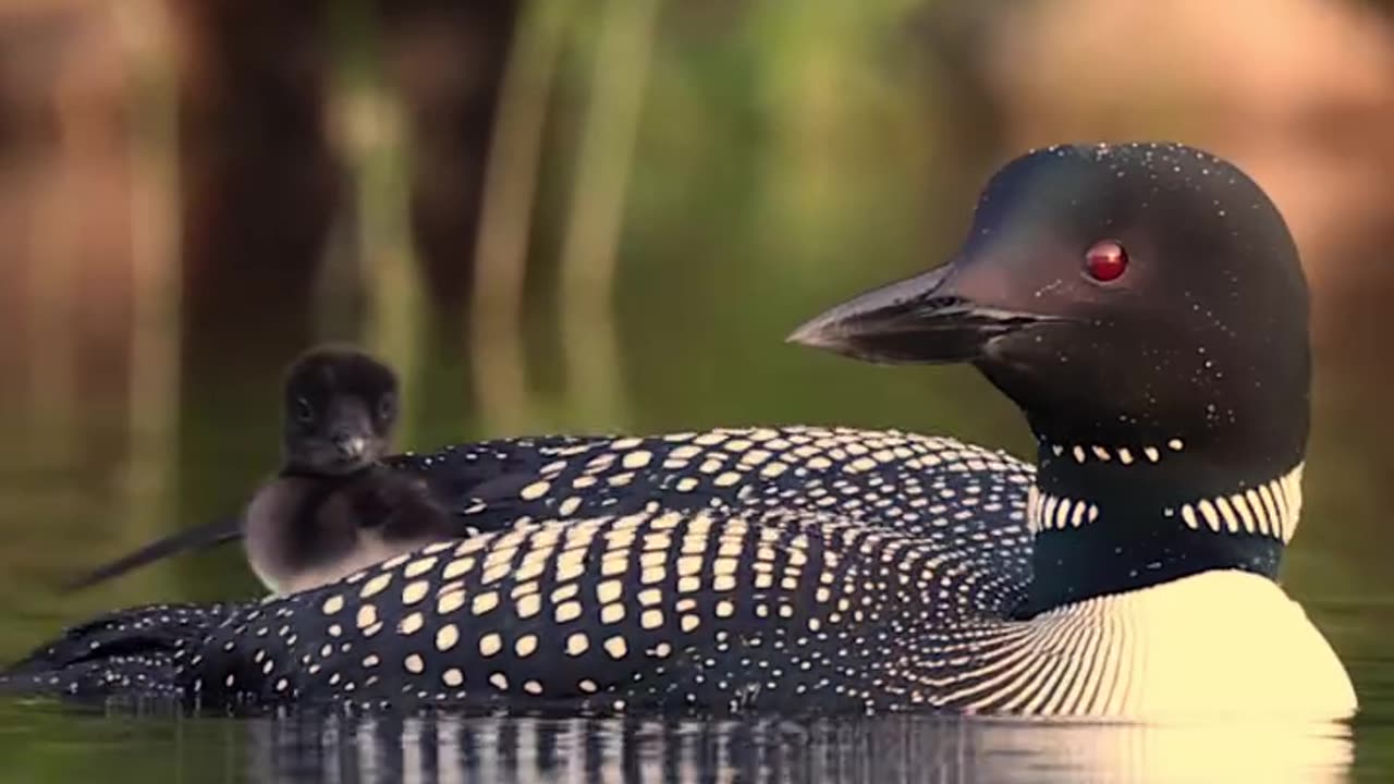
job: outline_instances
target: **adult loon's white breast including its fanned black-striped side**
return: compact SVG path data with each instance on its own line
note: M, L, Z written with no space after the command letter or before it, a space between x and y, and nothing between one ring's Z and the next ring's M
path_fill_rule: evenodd
M1345 668L1302 607L1246 572L1096 597L997 633L972 665L947 667L940 651L924 660L942 672L931 675L935 702L960 713L1138 721L1330 720L1356 709Z

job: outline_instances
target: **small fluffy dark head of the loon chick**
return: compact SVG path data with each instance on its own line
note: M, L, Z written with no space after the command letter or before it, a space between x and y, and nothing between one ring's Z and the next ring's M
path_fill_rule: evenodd
M361 352L309 350L287 372L284 395L282 445L290 472L350 474L392 446L397 379Z

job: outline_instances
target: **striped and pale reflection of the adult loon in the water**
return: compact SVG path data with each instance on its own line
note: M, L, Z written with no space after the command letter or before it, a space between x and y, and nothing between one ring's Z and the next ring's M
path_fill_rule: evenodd
M250 778L343 783L1345 781L1344 724L885 716L549 718L298 713L250 727Z

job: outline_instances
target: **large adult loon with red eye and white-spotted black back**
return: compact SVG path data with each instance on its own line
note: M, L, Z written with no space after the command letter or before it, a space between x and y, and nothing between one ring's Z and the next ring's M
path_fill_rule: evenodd
M947 266L792 339L973 363L1026 414L1034 470L899 432L526 442L553 460L502 504L512 525L256 605L99 619L8 684L204 706L1342 718L1349 678L1276 582L1306 329L1289 233L1231 163L1032 152ZM117 644L131 626L158 639Z

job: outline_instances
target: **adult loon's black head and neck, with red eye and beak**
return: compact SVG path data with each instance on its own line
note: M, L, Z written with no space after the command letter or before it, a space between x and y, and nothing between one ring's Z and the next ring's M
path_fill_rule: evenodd
M790 340L967 361L1016 402L1040 445L1043 605L1277 571L1309 427L1308 290L1277 208L1232 163L1179 144L1027 153L952 261Z

